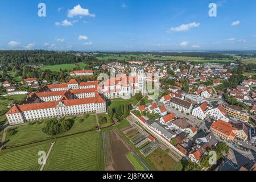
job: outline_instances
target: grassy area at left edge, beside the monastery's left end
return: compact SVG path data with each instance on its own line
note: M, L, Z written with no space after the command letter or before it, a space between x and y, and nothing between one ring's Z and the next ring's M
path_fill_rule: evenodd
M26 97L26 95L0 97L0 127L7 121L5 113L10 109L7 106L14 103L19 104Z

